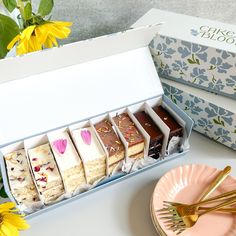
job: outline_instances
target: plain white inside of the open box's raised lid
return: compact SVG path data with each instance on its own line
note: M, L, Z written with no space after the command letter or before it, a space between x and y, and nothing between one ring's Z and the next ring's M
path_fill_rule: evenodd
M0 145L163 94L148 49L158 28L159 25L142 27L87 40L82 46L81 42L77 47L72 44L67 50L62 48L59 56L65 51L66 59L69 51L73 58L71 49L76 54L84 54L90 44L90 50L97 46L104 47L105 52L102 54L101 49L93 53L86 51L89 57L109 56L0 84ZM143 40L137 39L138 36ZM106 47L112 48L111 52ZM45 51L44 56L50 54L50 60L57 61L55 52L57 50ZM42 55L41 52L29 57L40 66L45 60ZM88 60L88 56L84 57ZM21 63L21 59L27 62L28 57L16 58L14 65ZM1 70L4 64L7 71L14 66L0 62ZM54 69L55 64L50 69ZM4 75L7 73L3 71Z

